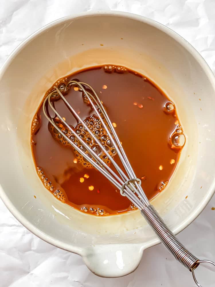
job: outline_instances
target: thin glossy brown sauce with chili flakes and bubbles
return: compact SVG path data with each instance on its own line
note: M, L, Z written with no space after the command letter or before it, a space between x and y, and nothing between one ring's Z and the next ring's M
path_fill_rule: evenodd
M71 79L90 84L103 101L148 199L163 191L175 170L185 141L174 104L143 75L114 65L87 68L59 79L45 96ZM69 90L67 100L82 119L94 121L96 130L96 117L84 103L81 92L76 90ZM62 100L56 100L55 108L69 125L83 132ZM107 140L105 145L108 146ZM32 121L31 144L38 175L56 199L99 216L135 209L112 183L81 160L68 142L48 125L42 103ZM112 152L114 160L122 166L115 151Z

